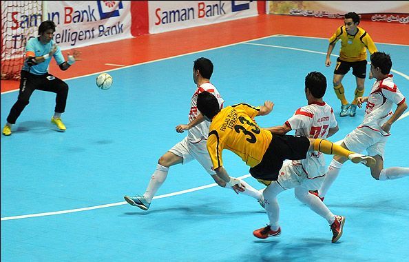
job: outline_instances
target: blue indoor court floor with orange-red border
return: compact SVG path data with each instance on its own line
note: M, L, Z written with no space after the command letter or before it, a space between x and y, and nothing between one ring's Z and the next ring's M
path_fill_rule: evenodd
M364 165L346 163L326 196L331 211L346 216L335 244L326 221L293 190L278 196L282 234L256 239L253 230L268 221L260 205L217 187L196 162L170 169L147 212L123 201L125 194L143 194L158 158L185 137L175 127L187 123L198 57L213 61L211 81L225 105L275 103L258 118L261 126L281 125L306 103L304 77L311 71L326 75L325 101L338 115L331 81L339 43L333 66L324 61L327 39L341 24L261 15L80 48L83 61L65 72L52 61L50 71L70 85L67 132L50 123L54 94L36 91L12 135L1 135L1 261L407 261L409 179L375 181ZM362 21L361 27L390 53L395 83L408 97L408 25ZM96 88L99 72L112 75L111 89ZM343 83L350 100L351 73ZM372 83L366 79L365 94ZM1 81L1 127L16 87ZM363 115L337 118L340 130L331 141ZM408 115L392 125L386 167L409 166ZM263 187L240 158L228 151L223 157L232 176Z

